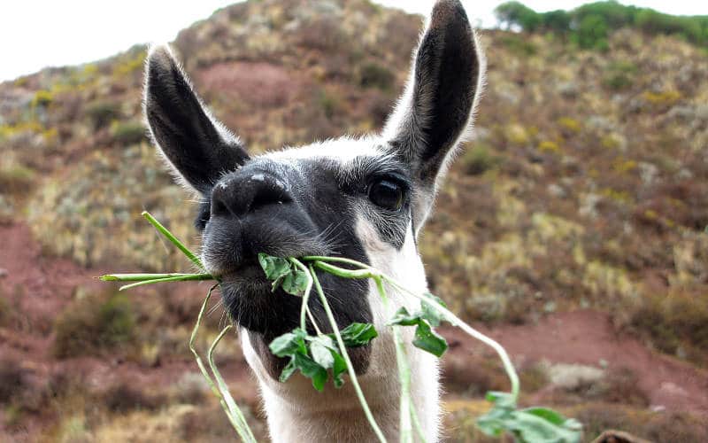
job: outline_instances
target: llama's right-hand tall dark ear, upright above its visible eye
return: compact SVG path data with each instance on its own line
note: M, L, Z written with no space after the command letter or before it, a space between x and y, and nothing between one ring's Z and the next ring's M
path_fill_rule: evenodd
M415 52L412 72L396 110L383 129L396 156L412 168L422 195L414 207L416 229L433 203L435 182L451 153L471 129L484 60L465 9L439 0Z

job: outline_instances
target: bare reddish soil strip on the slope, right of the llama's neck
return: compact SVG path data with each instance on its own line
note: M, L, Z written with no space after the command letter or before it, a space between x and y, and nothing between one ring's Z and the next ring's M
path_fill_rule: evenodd
M708 371L651 351L634 337L612 327L610 316L591 310L558 313L538 323L501 325L479 330L496 339L517 366L536 361L630 369L639 388L658 410L708 415ZM461 330L442 330L453 354L474 359L493 354Z

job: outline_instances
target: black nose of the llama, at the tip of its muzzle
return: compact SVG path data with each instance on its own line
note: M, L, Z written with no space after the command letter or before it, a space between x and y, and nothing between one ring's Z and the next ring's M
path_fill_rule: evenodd
M239 175L218 183L212 190L212 215L243 217L270 205L292 201L288 186L266 172Z

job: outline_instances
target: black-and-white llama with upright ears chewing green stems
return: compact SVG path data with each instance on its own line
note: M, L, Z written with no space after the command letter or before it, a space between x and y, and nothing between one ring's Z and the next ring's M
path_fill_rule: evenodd
M417 238L453 152L472 126L484 69L479 48L458 0L440 0L420 37L404 95L380 134L253 157L204 108L169 48L151 48L144 96L150 134L177 179L201 199L196 228L204 265L222 282L222 301L258 379L274 441L375 437L350 383L316 392L304 377L278 381L286 361L268 344L297 327L300 299L272 293L258 253L348 257L426 291ZM392 307L385 312L373 283L325 273L319 278L338 324L373 323L380 333L350 356L373 416L386 438L396 440L400 387L386 323L397 307L412 310L417 302L390 288ZM309 303L317 323L327 327L317 297ZM435 441L438 363L410 345L412 334L403 330L413 407L427 440Z

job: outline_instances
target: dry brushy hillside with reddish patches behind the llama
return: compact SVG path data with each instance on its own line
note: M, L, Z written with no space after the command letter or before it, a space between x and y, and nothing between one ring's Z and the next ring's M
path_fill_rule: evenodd
M381 128L419 26L417 16L364 0L250 1L183 30L173 48L219 120L263 152ZM558 404L591 431L700 440L708 55L627 28L608 35L608 51L552 34L481 37L489 73L475 137L420 244L431 289L510 346L516 339L520 354L516 328L543 335L543 325L565 319L581 338L596 328L619 360L624 349L647 356L633 366L528 351L522 383L536 393L527 400ZM230 435L186 349L205 287L128 299L89 278L189 268L139 217L143 209L198 245L196 205L145 139L144 57L135 46L0 84L0 232L14 248L0 255L0 385L18 386L0 388L0 439L114 441L135 427L148 430L143 439L165 430L189 441ZM212 337L219 315L209 319ZM576 347L557 332L559 348ZM486 354L452 351L448 406L479 412L483 390L470 386L502 389L501 373ZM557 363L603 375L558 387ZM223 364L242 382L236 400L258 411L240 354ZM655 365L669 378L643 379ZM661 391L666 383L683 393ZM666 412L650 412L657 408ZM466 414L450 420L451 439L481 441Z

